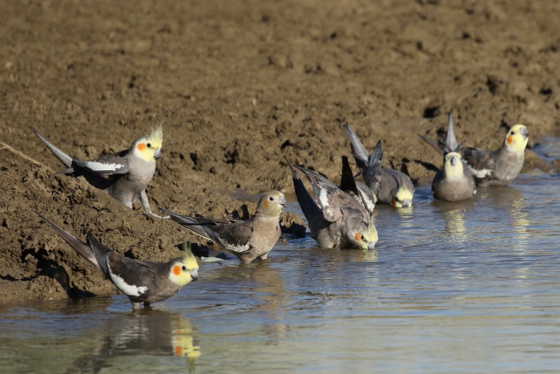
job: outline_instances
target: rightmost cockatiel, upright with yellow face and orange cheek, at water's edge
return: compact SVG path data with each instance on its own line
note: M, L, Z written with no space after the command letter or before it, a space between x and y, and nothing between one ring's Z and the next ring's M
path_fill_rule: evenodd
M422 137L436 151L444 153L442 141ZM476 148L461 149L461 157L466 161L479 186L506 185L521 172L525 160L525 147L529 141L529 132L524 125L511 127L502 147L496 151L483 151Z

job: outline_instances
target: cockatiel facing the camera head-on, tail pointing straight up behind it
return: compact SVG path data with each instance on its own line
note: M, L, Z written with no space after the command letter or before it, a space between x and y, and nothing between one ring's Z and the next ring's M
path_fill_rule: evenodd
M420 136L428 144L432 144L432 146L433 143L437 144L432 139ZM466 162L463 161L459 153L464 142L457 144L457 138L453 129L453 110L449 111L447 134L445 139L440 137L440 144L444 148L444 166L433 177L433 197L448 202L472 198L477 193L477 186L472 172L470 172L469 167L466 166Z

